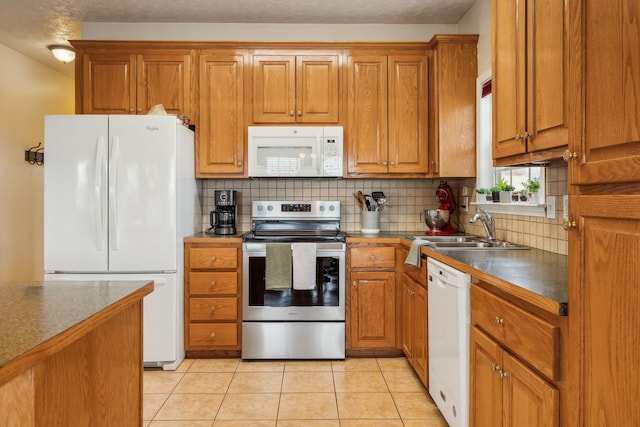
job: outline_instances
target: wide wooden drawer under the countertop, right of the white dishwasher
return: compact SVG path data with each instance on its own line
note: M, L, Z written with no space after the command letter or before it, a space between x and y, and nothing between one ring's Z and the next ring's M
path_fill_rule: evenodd
M548 378L557 379L560 328L475 285L471 320Z

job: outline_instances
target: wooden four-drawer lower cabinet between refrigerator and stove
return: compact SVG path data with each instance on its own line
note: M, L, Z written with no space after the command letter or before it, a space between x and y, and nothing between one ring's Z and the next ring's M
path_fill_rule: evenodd
M240 354L240 243L185 244L185 350Z

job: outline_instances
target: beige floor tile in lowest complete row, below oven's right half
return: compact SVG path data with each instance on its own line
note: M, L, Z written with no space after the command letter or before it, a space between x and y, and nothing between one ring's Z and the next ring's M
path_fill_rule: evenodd
M282 393L278 420L338 419L335 393Z

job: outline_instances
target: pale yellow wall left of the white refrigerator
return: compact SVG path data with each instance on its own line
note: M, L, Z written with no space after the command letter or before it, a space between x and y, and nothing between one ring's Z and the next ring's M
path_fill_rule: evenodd
M0 281L41 280L43 173L24 151L45 114L74 112L74 81L0 44L0 94Z

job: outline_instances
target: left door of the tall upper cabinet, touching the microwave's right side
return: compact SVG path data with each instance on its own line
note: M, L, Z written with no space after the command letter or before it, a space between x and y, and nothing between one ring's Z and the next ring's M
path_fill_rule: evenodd
M347 67L347 171L386 173L387 57L349 56Z

